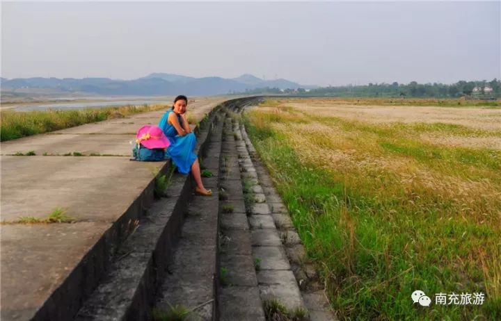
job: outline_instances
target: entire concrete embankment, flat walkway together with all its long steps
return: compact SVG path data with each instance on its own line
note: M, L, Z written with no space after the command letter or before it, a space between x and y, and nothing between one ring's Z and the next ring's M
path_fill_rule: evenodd
M74 221L1 225L1 320L335 320L239 122L260 99L189 106L207 114L196 152L212 197L193 195L191 176L170 174L168 161L129 161L128 140L163 111L10 142L3 220L61 206ZM56 156L5 156L28 150ZM166 196L154 198L152 171L170 176Z

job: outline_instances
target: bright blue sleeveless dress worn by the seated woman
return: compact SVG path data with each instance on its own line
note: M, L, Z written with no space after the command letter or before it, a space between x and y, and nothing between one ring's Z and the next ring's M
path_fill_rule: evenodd
M167 110L164 116L161 117L159 127L167 136L170 146L166 150L166 155L172 158L173 163L177 166L177 170L182 174L188 174L191 164L196 160L197 156L193 152L196 147L196 136L194 133L189 133L184 136L177 134L173 125L168 123L168 116L173 113L173 110ZM177 120L182 126L182 118L177 115Z

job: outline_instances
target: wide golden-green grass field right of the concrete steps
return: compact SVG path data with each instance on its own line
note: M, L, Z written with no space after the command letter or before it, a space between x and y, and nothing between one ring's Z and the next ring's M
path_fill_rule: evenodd
M500 131L286 103L251 110L247 129L338 317L500 320L501 151L461 145ZM432 305L413 304L414 290ZM482 305L435 304L436 293L480 292Z

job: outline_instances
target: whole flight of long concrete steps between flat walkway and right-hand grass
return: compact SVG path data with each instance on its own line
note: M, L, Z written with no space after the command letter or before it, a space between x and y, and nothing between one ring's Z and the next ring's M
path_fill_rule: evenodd
M226 101L198 133L196 151L212 197L193 195L191 175L172 174L166 197L140 217L109 266L91 272L102 274L93 290L72 289L86 291L73 304L79 306L74 318L42 307L31 320L335 320L239 122L258 101ZM63 302L58 295L49 303ZM270 304L286 315L270 315Z

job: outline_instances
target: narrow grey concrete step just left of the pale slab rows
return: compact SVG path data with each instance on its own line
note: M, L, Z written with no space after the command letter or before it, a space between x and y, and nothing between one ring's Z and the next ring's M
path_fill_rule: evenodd
M222 196L219 203L221 222L219 320L264 321L264 310L252 256L252 238L239 174L238 154L230 118L227 119L225 125L225 134L223 134L225 149L221 154L219 175L220 195ZM227 208L226 211L225 208Z

